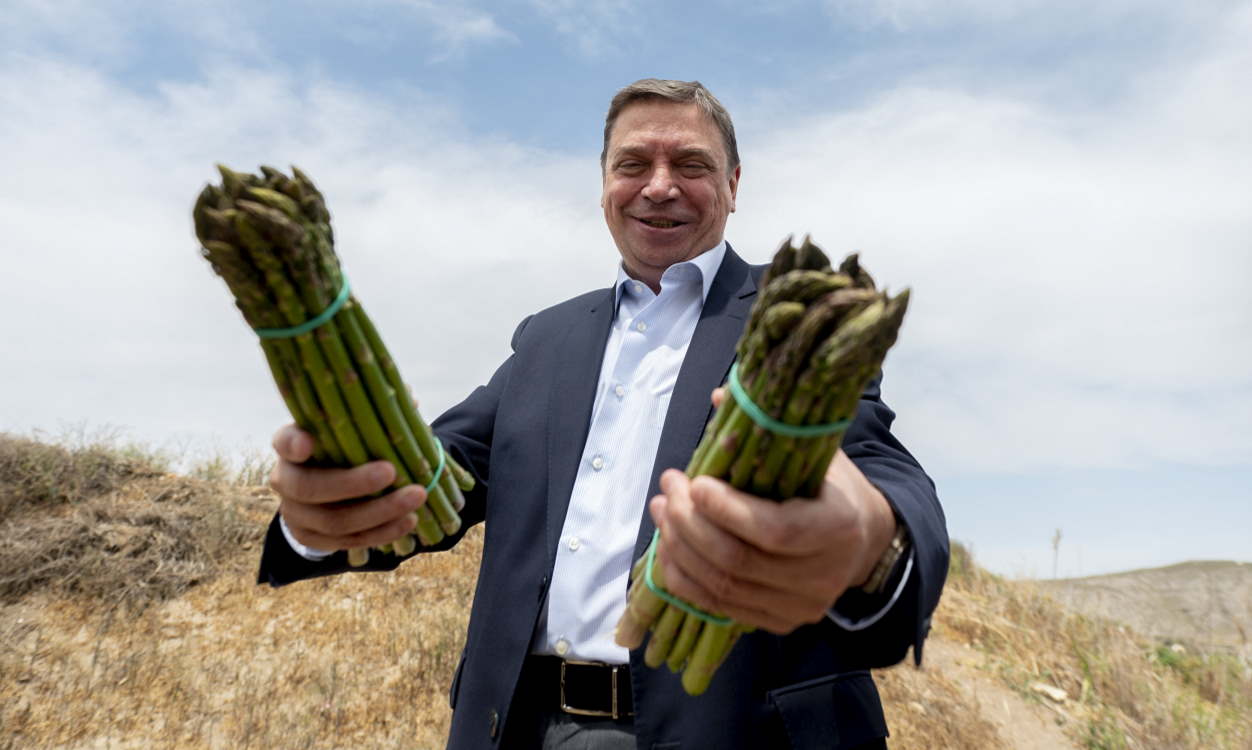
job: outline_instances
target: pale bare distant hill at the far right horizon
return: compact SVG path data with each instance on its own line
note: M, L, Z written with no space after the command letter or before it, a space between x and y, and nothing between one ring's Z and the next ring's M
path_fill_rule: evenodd
M1252 660L1252 562L1179 562L1039 586L1073 610L1126 622L1154 640Z

